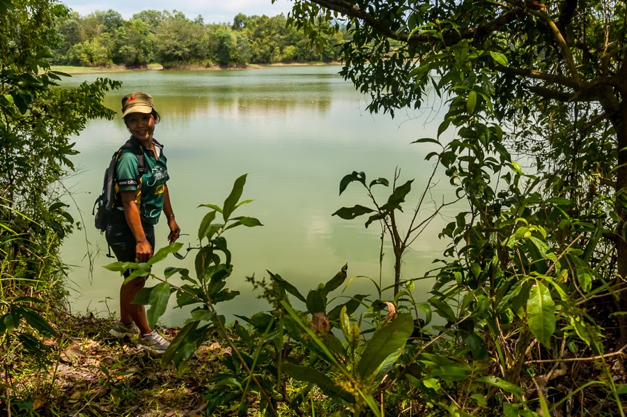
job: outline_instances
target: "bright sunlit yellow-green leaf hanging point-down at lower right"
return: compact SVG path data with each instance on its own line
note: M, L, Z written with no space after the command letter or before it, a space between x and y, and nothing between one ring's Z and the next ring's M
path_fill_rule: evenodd
M527 314L529 316L529 330L546 347L550 347L551 335L555 332L555 303L550 291L542 282L529 290L527 301Z

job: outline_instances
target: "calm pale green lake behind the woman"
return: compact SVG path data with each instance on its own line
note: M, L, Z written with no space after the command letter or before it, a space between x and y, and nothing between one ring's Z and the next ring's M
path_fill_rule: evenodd
M226 232L233 254L233 274L229 288L241 292L238 298L217 306L231 317L266 310L245 277L268 277L278 273L302 294L326 282L348 263L350 282L344 294L373 293L379 282L381 230L375 222L364 227L366 217L342 220L332 216L342 206L371 206L365 189L349 185L339 196L339 182L353 171L366 173L368 181L379 177L390 180L394 169L401 169L399 183L415 179L405 216L412 213L433 168L427 153L432 144L410 144L421 137L435 137L444 110L439 98L431 98L421 111L400 111L396 119L366 111L367 98L355 91L337 72L339 66L264 67L259 70L224 71L136 71L109 74L74 75L63 85L77 85L96 77L123 82L120 91L105 98L105 105L118 112L114 121L95 120L75 138L79 155L73 158L77 172L63 184L72 194L65 199L70 213L82 216L86 227L72 234L63 245L62 256L72 265L70 303L75 312L109 314L118 311L121 277L102 268L112 259L105 255L107 243L93 227L91 209L102 187L102 174L112 153L129 134L120 116L120 100L131 91L146 91L155 98L162 121L155 138L164 144L171 180L168 183L176 219L183 233L180 242L196 243L201 219L207 208L222 206L233 181L248 174L242 199L254 202L242 206L235 215L258 218L263 227L238 227ZM431 190L419 218L433 211L435 202L452 199L453 188L442 174ZM380 186L378 197L386 201L389 190ZM433 259L442 257L446 241L438 239L443 225L458 209L447 207L433 220L404 257L403 279L419 278L431 268ZM221 219L220 219L221 220ZM405 220L407 220L405 218ZM407 222L401 222L405 230ZM157 225L157 248L167 245L167 224ZM392 250L386 240L382 284L393 284ZM86 257L94 253L93 274ZM180 261L169 257L153 271L163 276L166 266L193 268L192 252ZM174 281L176 282L176 280ZM348 282L348 280L347 280ZM148 285L155 285L150 280ZM428 298L431 280L417 282L415 296ZM341 296L342 289L332 295ZM387 291L391 298L392 291ZM171 299L173 301L173 298ZM164 324L180 325L187 310L168 309Z

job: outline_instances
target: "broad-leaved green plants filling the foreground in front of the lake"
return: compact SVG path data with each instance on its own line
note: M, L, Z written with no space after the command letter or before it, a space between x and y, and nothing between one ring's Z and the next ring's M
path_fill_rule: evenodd
M467 237L458 224L463 216L458 216L443 234L464 241L460 252L469 252L474 261L441 261L432 271L435 286L426 302L415 300L414 280L402 281L396 294L389 294L391 286L344 300L330 298L345 284L348 266L306 296L268 272L269 282L249 281L272 308L250 317L238 315L248 326L236 323L233 337L215 305L237 296L226 287L232 259L224 232L261 225L254 218L232 217L236 208L250 202L240 202L245 176L235 181L222 206L204 205L210 212L199 227L201 245L187 249L197 251L195 274L166 268L162 278L153 272L180 244L162 248L146 264L116 262L107 268L134 268L128 280L151 275L160 281L136 299L150 305L153 323L171 294L179 307L194 305L164 354L164 365L173 362L183 372L214 332L229 345L227 370L210 377L208 413L241 415L254 405L266 415L333 411L377 416L403 409L420 415L622 414L619 395L624 386L614 384L606 366L615 355L605 354L601 328L582 308L607 291L591 285L593 271L585 255L591 248L552 239L559 224L555 218L564 218L568 202L541 199L533 190L534 177L511 167L502 174L507 185L495 199L500 208L486 218L493 222L493 252L477 239L483 226L474 226L478 230L471 229ZM347 177L366 182L363 173ZM342 186L350 182L344 179ZM388 199L394 204L380 206L373 214L376 220L385 223L391 211L401 211L404 197L399 197L410 191L406 184L401 191L394 187ZM215 222L218 213L223 222ZM582 231L596 227L587 218L567 221ZM175 274L184 285L169 281ZM585 367L587 373L582 373L580 361L597 368L590 372ZM580 392L603 401L592 405Z

